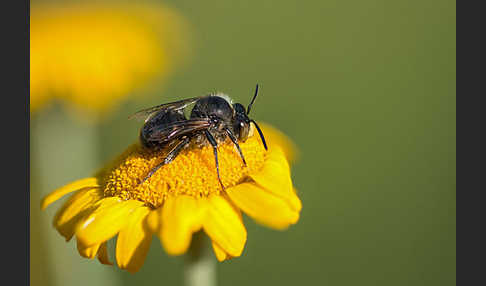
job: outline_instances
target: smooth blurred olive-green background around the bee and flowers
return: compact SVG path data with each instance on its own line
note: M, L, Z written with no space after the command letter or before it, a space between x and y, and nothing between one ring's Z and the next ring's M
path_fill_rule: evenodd
M32 116L32 285L180 285L184 257L157 238L135 275L81 258L51 226L61 204L40 212L39 198L136 140L134 111L215 90L246 104L256 83L253 118L300 149L303 210L285 232L245 218L219 285L455 285L455 1L164 3L191 24L194 53L160 92L96 128L58 106Z

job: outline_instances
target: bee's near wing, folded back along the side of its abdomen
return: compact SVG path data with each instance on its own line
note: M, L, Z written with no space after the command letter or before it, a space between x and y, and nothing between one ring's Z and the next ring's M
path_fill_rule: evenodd
M209 119L194 118L184 121L177 121L165 126L154 126L150 130L147 141L167 143L175 138L189 135L194 131L204 130L210 125Z

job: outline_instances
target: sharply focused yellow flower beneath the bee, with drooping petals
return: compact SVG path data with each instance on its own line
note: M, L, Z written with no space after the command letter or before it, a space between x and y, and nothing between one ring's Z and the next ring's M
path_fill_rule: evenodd
M67 241L77 238L79 253L108 261L106 241L118 234L116 261L136 272L156 234L170 255L187 251L192 235L203 230L219 261L238 257L246 243L241 211L274 229L299 220L301 201L293 187L289 156L292 144L262 124L268 143L258 135L240 143L245 167L231 141L218 147L223 190L210 146L183 150L148 180L147 173L165 156L136 143L95 177L70 183L45 197L44 209L76 191L57 212L54 226Z

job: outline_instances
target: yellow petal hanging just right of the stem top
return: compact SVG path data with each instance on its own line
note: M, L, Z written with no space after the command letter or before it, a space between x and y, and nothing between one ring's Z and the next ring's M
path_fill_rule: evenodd
M239 211L220 195L210 195L200 201L206 204L204 231L226 253L240 256L246 243L246 229Z

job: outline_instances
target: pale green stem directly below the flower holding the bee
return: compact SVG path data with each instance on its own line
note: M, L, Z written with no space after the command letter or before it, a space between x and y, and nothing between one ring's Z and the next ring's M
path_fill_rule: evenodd
M194 234L184 269L186 286L215 286L216 260L211 253L210 240L204 232Z

